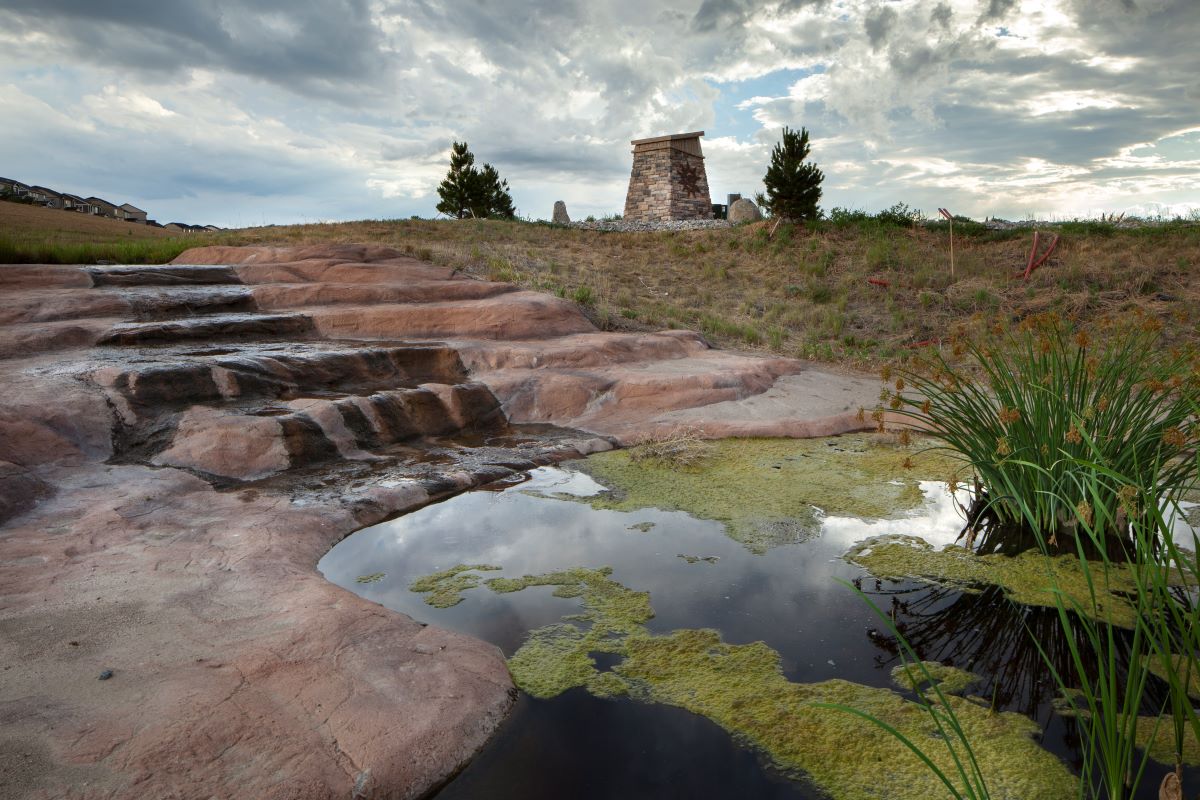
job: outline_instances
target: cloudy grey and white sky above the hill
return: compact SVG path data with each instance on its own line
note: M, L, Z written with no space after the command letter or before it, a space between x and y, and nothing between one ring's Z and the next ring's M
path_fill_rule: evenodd
M1200 210L1200 0L2 0L0 175L251 225L432 216L451 140L520 213L619 212L703 130L713 199L805 126L822 205Z

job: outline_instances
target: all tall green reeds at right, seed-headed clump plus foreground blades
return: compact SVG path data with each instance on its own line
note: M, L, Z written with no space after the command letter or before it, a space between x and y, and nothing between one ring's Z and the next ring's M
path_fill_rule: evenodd
M919 395L902 395L901 379L892 396L893 405L974 470L982 495L974 507L1030 533L1048 558L1046 585L1067 633L1069 669L1056 668L1028 634L1064 712L1079 723L1079 796L1093 800L1135 796L1160 734L1169 736L1175 772L1159 796L1182 798L1184 747L1200 741L1193 705L1200 693L1200 541L1194 533L1186 543L1176 541L1174 524L1180 498L1195 488L1200 471L1200 373L1189 354L1160 345L1156 325L1132 321L1093 348L1060 319L1034 319L998 331L998 344L962 343L958 355L972 356L973 369L938 355L926 371L907 375ZM1049 566L1064 531L1087 582L1084 597L1062 590ZM1103 602L1116 566L1135 582L1132 631L1114 624ZM892 631L904 660L919 664ZM1157 704L1147 692L1154 680L1166 687ZM955 733L940 699L922 704L940 729L946 722ZM973 752L962 736L947 746ZM966 769L973 759L955 763L958 781L938 772L949 796L988 798L986 776Z

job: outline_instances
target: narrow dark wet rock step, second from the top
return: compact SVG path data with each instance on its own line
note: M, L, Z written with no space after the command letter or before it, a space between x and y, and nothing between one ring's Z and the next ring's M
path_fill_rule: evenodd
M214 314L192 319L114 325L97 344L139 345L188 341L300 338L313 333L307 314Z

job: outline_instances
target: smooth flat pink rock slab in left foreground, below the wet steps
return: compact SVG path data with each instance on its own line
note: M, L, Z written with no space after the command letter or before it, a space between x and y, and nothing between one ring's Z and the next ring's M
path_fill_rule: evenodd
M419 796L506 714L494 648L316 573L344 512L170 469L53 479L0 540L0 748L72 777L35 796Z

